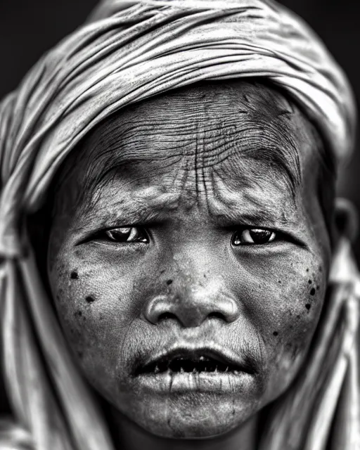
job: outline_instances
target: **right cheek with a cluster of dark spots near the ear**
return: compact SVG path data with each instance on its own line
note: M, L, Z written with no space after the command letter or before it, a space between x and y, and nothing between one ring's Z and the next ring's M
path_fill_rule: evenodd
M245 308L264 342L267 398L290 385L314 335L326 293L328 267L313 255L282 255L248 264Z

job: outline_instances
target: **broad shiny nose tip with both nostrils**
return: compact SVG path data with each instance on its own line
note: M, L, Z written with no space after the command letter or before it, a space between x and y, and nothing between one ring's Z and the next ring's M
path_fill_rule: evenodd
M186 289L184 293L158 295L146 305L145 318L153 324L175 319L185 328L200 326L208 319L224 322L238 319L240 310L236 300L216 286Z

